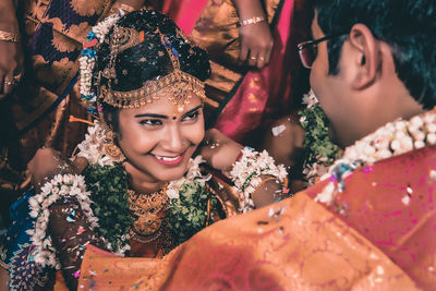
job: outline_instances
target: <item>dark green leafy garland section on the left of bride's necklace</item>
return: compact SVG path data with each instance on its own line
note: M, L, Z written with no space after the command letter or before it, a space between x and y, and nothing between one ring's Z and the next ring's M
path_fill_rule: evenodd
M126 196L128 174L121 165L93 165L85 170L84 175L94 202L90 206L100 225L97 232L117 252L124 244L121 238L129 233L133 223Z

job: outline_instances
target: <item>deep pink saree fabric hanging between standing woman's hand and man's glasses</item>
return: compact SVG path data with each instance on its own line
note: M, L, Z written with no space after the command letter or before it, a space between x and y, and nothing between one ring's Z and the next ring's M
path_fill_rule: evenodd
M263 122L289 113L298 104L293 90L301 74L296 44L305 37L304 1L286 0L274 28L270 63L249 71L237 93L218 117L215 128L233 140L253 144ZM296 14L296 15L295 15ZM300 84L301 85L301 84ZM254 143L255 145L256 143Z

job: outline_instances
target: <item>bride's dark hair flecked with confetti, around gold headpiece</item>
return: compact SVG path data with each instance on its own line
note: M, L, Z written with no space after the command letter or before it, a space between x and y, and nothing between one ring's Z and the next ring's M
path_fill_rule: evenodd
M143 32L144 39L133 47L117 53L113 64L116 77L104 76L102 72L111 61L111 39L113 27L97 49L97 63L94 69L94 84L104 86L110 83L117 92L130 92L143 87L147 81L158 80L173 72L171 57L162 44L161 35L170 43L172 53L178 57L180 70L205 81L210 76L210 64L207 52L193 45L183 32L168 16L156 11L143 10L122 16L117 27L134 28ZM97 80L99 77L99 80ZM113 117L110 123L118 131L118 109L104 104L105 113Z

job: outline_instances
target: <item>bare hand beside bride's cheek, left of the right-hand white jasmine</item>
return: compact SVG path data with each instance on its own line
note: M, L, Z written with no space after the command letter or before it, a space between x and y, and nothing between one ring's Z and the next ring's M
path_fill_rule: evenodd
M242 145L213 129L206 133L205 144L199 148L199 154L210 167L226 174L232 169L242 148Z

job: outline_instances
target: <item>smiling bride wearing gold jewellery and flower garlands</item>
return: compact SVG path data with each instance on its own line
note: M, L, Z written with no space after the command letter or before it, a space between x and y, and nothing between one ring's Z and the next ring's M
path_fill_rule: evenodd
M266 151L206 134L208 57L168 17L109 16L84 47L81 94L95 119L74 166L49 148L29 163L35 191L13 205L2 245L11 289L48 290L63 278L75 290L89 245L162 257L214 221L286 195L286 170ZM215 170L197 155L205 135Z

